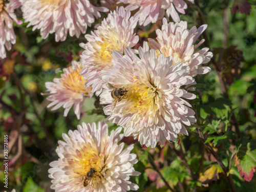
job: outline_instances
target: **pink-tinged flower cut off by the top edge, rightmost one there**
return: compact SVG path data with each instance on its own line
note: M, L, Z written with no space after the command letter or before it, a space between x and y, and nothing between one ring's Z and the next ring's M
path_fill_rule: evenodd
M194 0L188 1L194 3ZM175 22L179 22L180 17L177 11L185 14L185 9L187 9L187 4L183 0L119 0L118 3L129 4L125 7L126 10L139 9L134 17L139 18L139 25L143 26L162 19L165 10L167 17L171 16Z

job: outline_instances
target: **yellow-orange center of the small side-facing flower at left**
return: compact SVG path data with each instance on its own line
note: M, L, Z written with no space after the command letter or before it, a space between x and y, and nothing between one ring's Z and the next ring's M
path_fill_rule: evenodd
M78 67L75 70L72 67L69 67L67 70L69 73L61 74L60 82L63 87L68 90L73 90L74 92L84 92L88 91L84 88L84 83L86 80L83 80L82 75L80 75L82 67ZM84 93L88 95L88 92Z

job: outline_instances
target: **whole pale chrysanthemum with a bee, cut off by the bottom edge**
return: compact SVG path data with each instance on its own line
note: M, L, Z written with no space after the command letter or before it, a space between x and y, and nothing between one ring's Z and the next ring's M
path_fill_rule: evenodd
M137 190L138 185L129 179L140 174L133 167L138 160L131 154L134 145L123 149L124 143L118 144L123 138L121 130L118 127L108 135L105 123L99 122L98 127L95 123L82 123L78 130L63 134L65 141L59 141L56 149L59 159L50 163L51 189L56 192ZM88 172L95 172L91 180L87 178Z

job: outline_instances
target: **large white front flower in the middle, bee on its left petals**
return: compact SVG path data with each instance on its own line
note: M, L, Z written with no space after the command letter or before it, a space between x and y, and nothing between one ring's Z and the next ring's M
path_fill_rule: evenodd
M125 48L124 55L114 51L113 68L102 71L106 82L100 95L101 104L109 115L107 120L124 127L124 136L133 134L141 144L155 147L165 139L176 141L178 134L187 135L184 125L196 122L195 112L184 99L194 99L196 95L181 89L193 83L189 67L181 62L173 67L173 57L157 58L154 49L139 48L137 57L131 48ZM113 110L110 83L116 88L124 88L126 96L117 102Z

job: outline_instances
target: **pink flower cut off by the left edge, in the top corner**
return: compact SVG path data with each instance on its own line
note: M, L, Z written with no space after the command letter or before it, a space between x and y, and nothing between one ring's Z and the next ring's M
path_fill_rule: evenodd
M16 35L13 30L13 21L21 25L14 10L20 6L18 0L0 0L0 58L6 57L6 50L11 50L12 44L16 42Z

